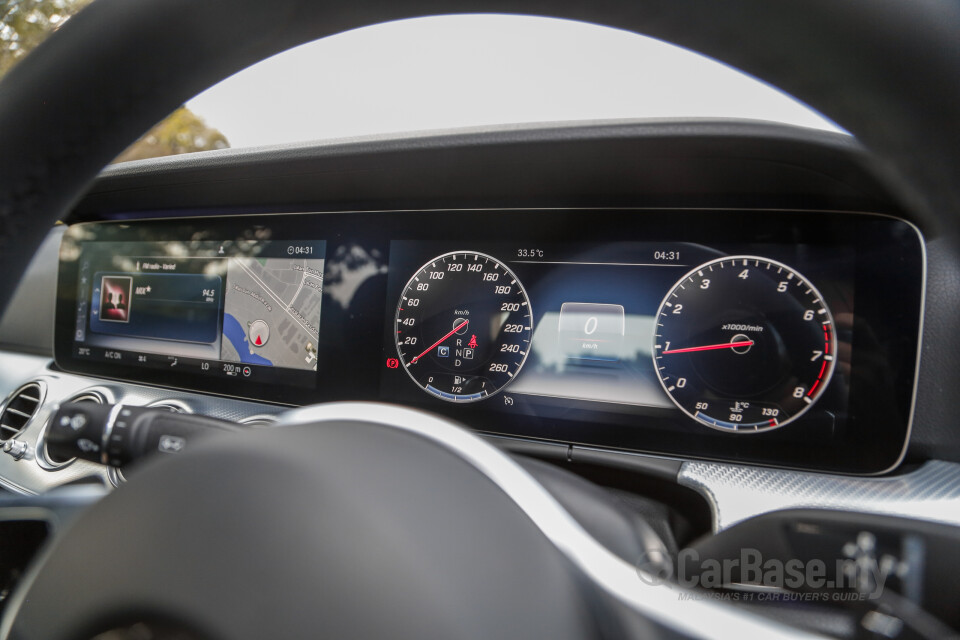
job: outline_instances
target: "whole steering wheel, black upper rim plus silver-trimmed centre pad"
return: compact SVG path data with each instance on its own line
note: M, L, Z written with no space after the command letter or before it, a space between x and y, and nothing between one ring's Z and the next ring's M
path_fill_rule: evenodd
M192 95L318 37L468 11L687 46L855 134L927 235L915 421L951 424L960 5L950 0L97 0L0 85L0 303L100 168ZM448 421L357 404L286 421L149 465L91 507L24 581L3 634L87 638L140 619L211 638L792 633L708 602L678 608L509 457Z

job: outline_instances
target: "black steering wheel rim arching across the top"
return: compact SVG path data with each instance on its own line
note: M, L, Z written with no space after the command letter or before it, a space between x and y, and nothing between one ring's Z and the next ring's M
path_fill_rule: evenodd
M579 19L658 37L753 73L818 108L864 143L877 172L928 239L940 243L943 271L933 274L931 287L954 281L960 264L960 5L953 2L97 0L0 85L0 269L7 276L0 304L50 225L100 168L207 86L273 53L347 29L491 11ZM956 294L944 295L939 308L952 315ZM960 339L951 327L926 330L937 353L925 355L925 367L937 358L955 361ZM943 368L949 376L936 388L956 388L956 367ZM950 413L942 402L933 406Z

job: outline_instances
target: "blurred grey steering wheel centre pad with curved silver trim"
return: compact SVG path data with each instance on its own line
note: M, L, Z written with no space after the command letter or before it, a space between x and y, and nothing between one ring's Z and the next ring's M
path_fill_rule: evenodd
M0 637L135 622L191 634L170 640L806 637L678 598L493 445L363 402L146 462L43 553Z

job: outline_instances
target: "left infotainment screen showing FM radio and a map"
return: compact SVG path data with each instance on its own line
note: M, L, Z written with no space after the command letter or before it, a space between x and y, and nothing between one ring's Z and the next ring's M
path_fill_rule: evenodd
M84 243L74 354L262 381L270 369L316 371L325 248Z

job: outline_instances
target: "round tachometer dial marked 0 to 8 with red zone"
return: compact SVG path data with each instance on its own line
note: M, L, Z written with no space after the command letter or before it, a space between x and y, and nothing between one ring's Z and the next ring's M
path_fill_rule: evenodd
M756 256L700 265L657 313L653 362L694 420L756 432L803 415L833 374L836 339L823 296L790 267Z

